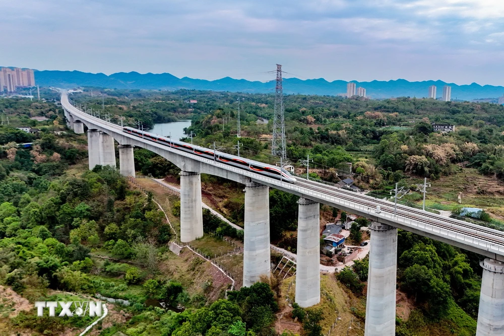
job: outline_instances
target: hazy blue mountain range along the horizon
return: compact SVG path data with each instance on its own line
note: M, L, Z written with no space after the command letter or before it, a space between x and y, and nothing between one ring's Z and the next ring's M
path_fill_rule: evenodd
M193 79L188 77L177 78L171 74L139 74L116 73L110 76L105 74L91 74L80 71L36 71L35 81L38 85L59 88L73 88L78 86L115 88L115 89L153 89L153 90L177 90L196 89L212 91L230 91L245 93L273 93L274 82L237 80L224 77L215 81ZM504 94L504 87L484 85L476 83L471 85L456 85L443 81L423 81L409 82L403 79L395 81L372 81L356 82L356 86L366 89L370 98L390 98L390 97L417 97L427 96L430 85L437 86L437 96L443 94L443 86L452 87L452 100L473 100L478 98L496 98ZM337 95L346 92L347 82L328 82L323 78L300 80L297 78L284 79L283 87L285 94L307 94L307 95Z

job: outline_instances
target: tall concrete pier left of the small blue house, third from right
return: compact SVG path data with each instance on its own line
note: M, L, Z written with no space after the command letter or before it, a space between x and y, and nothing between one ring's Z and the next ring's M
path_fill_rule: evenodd
M320 302L320 204L303 197L297 203L296 303L306 308Z

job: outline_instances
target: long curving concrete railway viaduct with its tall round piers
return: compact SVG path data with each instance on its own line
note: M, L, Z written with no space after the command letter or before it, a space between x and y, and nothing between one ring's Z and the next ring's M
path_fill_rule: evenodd
M61 106L67 125L76 133L87 127L89 169L96 165L116 167L114 140L119 144L119 171L135 176L133 148L150 150L181 169L180 240L203 236L200 174L207 173L245 185L243 286L270 275L269 188L300 196L295 301L302 307L320 302L319 209L320 203L371 220L369 276L365 336L395 335L397 229L404 229L486 256L481 262L483 278L477 336L504 335L504 232L445 218L298 178L280 181L196 155L176 151L122 131L122 127L76 108L61 90Z

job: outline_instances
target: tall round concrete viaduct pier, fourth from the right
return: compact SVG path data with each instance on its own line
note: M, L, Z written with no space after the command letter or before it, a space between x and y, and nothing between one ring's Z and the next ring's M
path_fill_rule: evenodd
M243 237L243 286L249 287L270 277L270 197L269 188L256 182L245 186Z

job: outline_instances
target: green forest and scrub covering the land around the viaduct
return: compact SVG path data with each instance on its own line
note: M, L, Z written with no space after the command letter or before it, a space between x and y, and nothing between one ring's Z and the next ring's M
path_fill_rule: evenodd
M141 91L85 89L73 99L103 117L132 126L192 119L187 132L202 146L276 164L271 155L274 100L267 94L208 91ZM93 96L91 96L93 91ZM48 96L49 97L49 96ZM197 99L197 103L187 103ZM240 99L238 112L237 99ZM478 224L501 227L504 204L504 108L495 104L439 102L397 98L381 101L330 96L284 97L287 157L298 175L306 174L300 160L309 158L309 176L338 182L351 174L354 184L377 197L390 198L395 183L410 189L402 203L421 207L415 185L426 177L428 211L450 211ZM121 307L127 318L102 325L100 334L114 335L274 335L273 326L283 303L283 285L275 279L254 287L230 291L211 280L196 284L201 260L181 263L168 251L176 232L166 222L155 195L142 191L115 169L86 169L84 136L66 129L61 110L53 102L0 99L0 285L12 288L29 301L42 297L60 300L68 294L96 295L129 300ZM241 138L236 137L240 113ZM37 121L35 116L46 120ZM450 133L435 132L432 122L456 125ZM38 132L15 127L29 125ZM238 144L239 142L239 144ZM30 148L18 144L33 143ZM176 181L179 169L143 149L135 150L139 173L168 176ZM351 170L350 170L351 169ZM460 183L474 179L474 184ZM456 182L458 181L458 182ZM202 176L204 192L223 193L222 213L243 223L242 186ZM460 195L462 194L462 195ZM457 198L457 195L459 195ZM156 194L157 197L157 194ZM297 197L270 190L272 243L295 252ZM167 216L177 229L176 198ZM463 207L479 207L477 218L463 215ZM338 209L322 207L332 218ZM346 214L345 214L346 215ZM360 226L351 239L360 242ZM204 215L205 237L242 239L209 214ZM213 239L213 238L212 238ZM208 248L208 240L200 248ZM208 250L211 253L212 250ZM478 313L481 256L450 245L400 231L398 289L413 302L408 319L397 319L398 335L460 334L475 332ZM182 267L182 268L180 268ZM367 259L355 262L334 276L350 298L365 298ZM170 270L170 271L167 271ZM183 270L183 271L181 271ZM203 279L203 278L202 278ZM226 295L227 292L227 295ZM227 297L227 299L226 299ZM147 305L162 302L169 309ZM364 300L365 302L365 300ZM178 311L177 307L183 307ZM8 313L3 303L0 313ZM348 308L347 308L348 309ZM352 307L358 320L365 308ZM324 314L318 308L293 305L289 313L301 323L300 333L322 334ZM90 318L36 319L35 311L20 312L0 322L2 330L30 330L31 334L60 334L82 328ZM288 332L286 333L288 334Z

